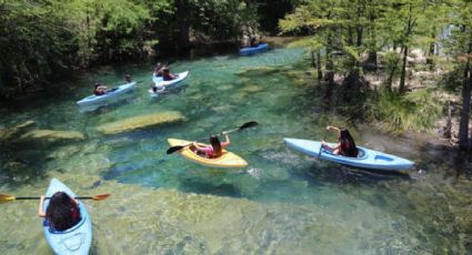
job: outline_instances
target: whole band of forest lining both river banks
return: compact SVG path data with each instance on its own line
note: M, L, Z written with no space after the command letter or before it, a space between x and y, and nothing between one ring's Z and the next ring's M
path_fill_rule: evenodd
M442 135L472 147L470 0L0 0L0 98L257 34L299 37L311 59L301 69L345 114L395 132L445 116Z

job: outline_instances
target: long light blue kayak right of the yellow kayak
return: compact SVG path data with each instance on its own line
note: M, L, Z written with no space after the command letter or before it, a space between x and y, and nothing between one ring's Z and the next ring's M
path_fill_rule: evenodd
M359 156L350 157L333 154L330 151L327 151L321 147L321 142L301 140L301 139L283 139L285 144L301 153L304 153L310 156L319 157L322 160L335 162L339 164L350 165L361 169L372 169L372 170L389 170L389 171L400 171L406 170L413 166L414 162L405 160L400 156L386 154L383 152L369 150L362 146L358 146ZM334 145L334 143L330 144ZM320 152L321 150L321 152Z

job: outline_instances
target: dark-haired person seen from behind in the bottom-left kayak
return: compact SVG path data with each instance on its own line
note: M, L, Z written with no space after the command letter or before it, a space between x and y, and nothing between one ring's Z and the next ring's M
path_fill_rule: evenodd
M48 208L44 213L43 204L46 196L41 196L39 202L38 215L46 217L46 224L49 224L54 231L66 231L81 221L79 203L64 192L57 192L51 196Z

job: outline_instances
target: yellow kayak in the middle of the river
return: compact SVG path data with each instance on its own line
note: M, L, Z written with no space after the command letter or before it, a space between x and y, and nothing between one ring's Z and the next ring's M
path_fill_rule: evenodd
M191 141L178 140L178 139L168 139L168 142L171 146L183 146L192 143ZM199 143L200 144L200 143ZM205 145L205 144L201 144ZM201 164L210 167L244 167L248 166L248 162L245 162L242 157L237 154L229 152L223 149L223 154L217 159L207 159L197 155L190 146L185 146L179 151L179 154L185 157L189 161L195 162L197 164Z

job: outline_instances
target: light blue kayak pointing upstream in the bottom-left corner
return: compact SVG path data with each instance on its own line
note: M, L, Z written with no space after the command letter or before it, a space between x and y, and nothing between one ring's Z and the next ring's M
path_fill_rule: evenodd
M52 178L48 191L46 192L47 197L51 197L56 192L66 192L68 195L76 197L77 195L63 183L57 178ZM43 210L48 208L49 200L44 201ZM57 232L51 230L47 221L43 221L43 233L49 246L54 251L56 254L89 254L89 249L92 245L92 222L87 208L82 202L79 201L80 215L82 220L73 227Z

